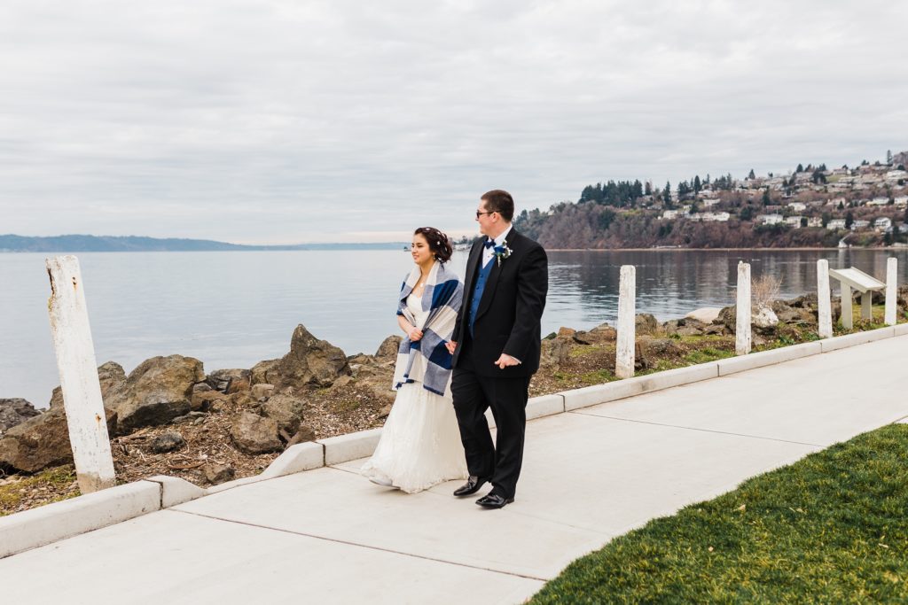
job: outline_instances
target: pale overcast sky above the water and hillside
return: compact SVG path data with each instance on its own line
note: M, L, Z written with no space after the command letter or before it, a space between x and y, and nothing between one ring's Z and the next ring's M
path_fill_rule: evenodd
M408 240L908 149L908 3L0 4L0 233Z

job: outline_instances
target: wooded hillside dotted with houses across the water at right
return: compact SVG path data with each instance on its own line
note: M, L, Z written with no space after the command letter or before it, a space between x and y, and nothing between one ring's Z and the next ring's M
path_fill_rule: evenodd
M854 168L671 183L607 181L576 202L524 210L521 231L550 249L834 248L908 245L908 151Z

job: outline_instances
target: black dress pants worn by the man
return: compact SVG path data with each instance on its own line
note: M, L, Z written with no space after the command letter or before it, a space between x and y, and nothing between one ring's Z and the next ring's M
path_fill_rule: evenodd
M469 356L469 337L464 344L451 378L451 395L467 468L472 475L490 478L493 493L513 498L523 465L529 376L480 376ZM494 445L485 416L489 407L498 431Z

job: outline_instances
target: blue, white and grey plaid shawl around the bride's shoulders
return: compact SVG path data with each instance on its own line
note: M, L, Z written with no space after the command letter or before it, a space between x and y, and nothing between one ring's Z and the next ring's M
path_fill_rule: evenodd
M463 302L463 284L457 275L436 261L422 290L422 310L429 311L420 326L407 308L407 298L419 282L421 272L414 267L400 287L398 315L406 317L422 331L422 338L411 342L403 339L394 367L394 390L406 383L419 381L422 387L436 395L444 395L451 375L452 356L445 346L454 333L458 311Z

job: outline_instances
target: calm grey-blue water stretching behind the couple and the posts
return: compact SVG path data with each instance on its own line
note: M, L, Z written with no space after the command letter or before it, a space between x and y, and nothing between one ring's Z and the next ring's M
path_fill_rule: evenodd
M637 312L660 320L734 300L738 260L782 279L783 296L815 288L817 259L885 277L877 250L552 252L543 333L586 329L617 316L621 265L637 267ZM0 397L44 406L59 383L47 318L44 254L0 254ZM399 251L83 253L98 363L129 372L180 354L206 370L251 367L290 349L297 324L348 354L372 353L398 331L396 295L410 270ZM908 278L908 252L899 281ZM451 260L461 277L466 253Z

